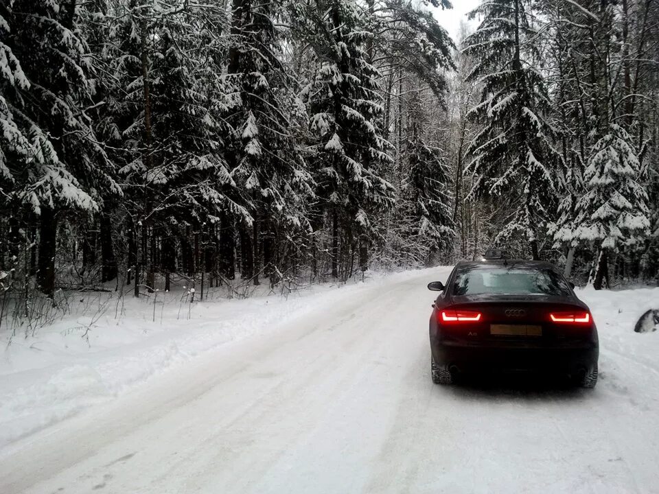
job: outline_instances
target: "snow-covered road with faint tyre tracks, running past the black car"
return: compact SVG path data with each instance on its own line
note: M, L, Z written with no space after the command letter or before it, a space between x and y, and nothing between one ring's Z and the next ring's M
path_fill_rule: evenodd
M0 493L659 492L659 333L602 320L625 297L583 295L592 391L441 387L426 283L448 272L347 294L18 440Z

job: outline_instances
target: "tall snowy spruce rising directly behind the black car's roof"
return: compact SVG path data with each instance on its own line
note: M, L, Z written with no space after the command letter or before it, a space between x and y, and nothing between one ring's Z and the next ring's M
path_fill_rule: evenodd
M471 13L483 21L465 40L465 54L476 60L467 80L483 89L470 118L483 122L483 129L467 150L467 171L476 175L475 196L507 204L496 240L520 235L538 259L538 241L555 207L553 172L560 156L529 8L525 0L493 0Z

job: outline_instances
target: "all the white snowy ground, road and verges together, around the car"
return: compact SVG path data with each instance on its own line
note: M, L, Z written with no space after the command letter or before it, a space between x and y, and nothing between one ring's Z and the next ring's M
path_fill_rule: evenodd
M659 289L579 292L592 391L441 387L425 285L448 272L14 340L0 493L656 493L659 332L633 328Z

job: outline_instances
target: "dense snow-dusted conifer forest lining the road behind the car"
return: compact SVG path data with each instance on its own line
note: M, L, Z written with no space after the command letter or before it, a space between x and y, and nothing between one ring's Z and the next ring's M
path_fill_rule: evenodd
M0 0L0 297L502 246L659 282L659 1ZM2 314L0 314L0 321Z

